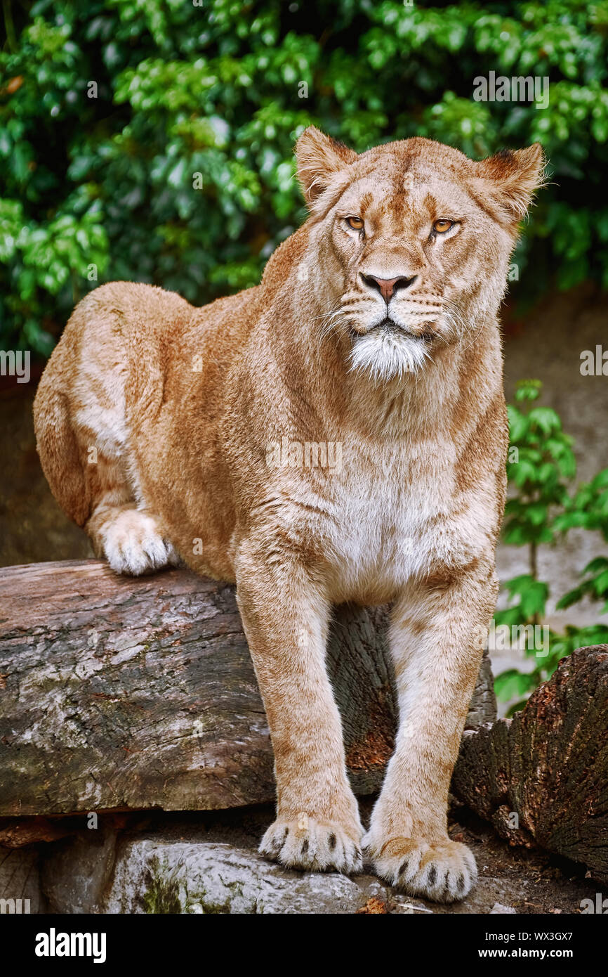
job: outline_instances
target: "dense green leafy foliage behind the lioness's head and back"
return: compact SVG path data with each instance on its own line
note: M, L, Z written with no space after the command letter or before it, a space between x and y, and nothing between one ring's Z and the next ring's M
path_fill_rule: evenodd
M5 348L47 354L103 280L196 303L257 281L304 216L292 150L310 121L355 149L426 135L482 157L539 140L553 185L518 294L608 283L605 2L4 0L3 17ZM548 107L473 101L490 71L547 76Z

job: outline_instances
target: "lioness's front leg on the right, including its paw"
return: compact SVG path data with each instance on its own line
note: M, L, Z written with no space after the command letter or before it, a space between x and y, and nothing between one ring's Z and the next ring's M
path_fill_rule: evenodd
M392 614L399 730L363 843L386 881L436 902L463 899L477 874L448 836L448 790L496 593L493 560L475 561L412 586Z

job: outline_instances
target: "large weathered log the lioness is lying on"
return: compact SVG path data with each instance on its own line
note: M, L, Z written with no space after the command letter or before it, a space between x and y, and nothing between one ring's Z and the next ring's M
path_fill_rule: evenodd
M96 560L33 564L0 571L0 608L0 816L274 797L233 587L185 571L124 578ZM394 737L385 618L344 605L329 642L362 794L380 786ZM467 725L495 717L486 661ZM6 830L2 843L18 846Z

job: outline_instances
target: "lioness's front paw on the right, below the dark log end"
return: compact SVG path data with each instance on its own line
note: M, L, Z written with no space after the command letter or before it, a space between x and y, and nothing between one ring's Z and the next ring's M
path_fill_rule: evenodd
M415 838L392 838L380 851L370 846L368 852L375 871L390 885L435 903L465 899L477 879L470 849L449 838L432 844Z

